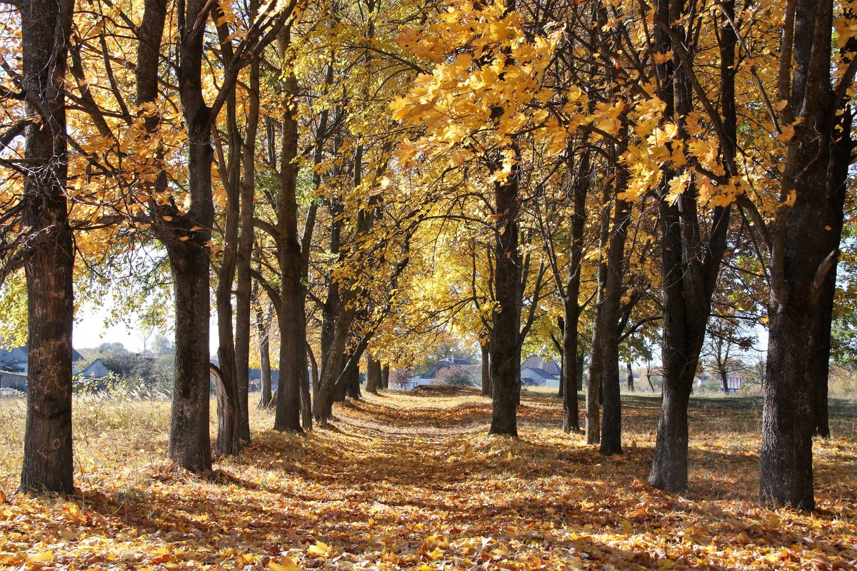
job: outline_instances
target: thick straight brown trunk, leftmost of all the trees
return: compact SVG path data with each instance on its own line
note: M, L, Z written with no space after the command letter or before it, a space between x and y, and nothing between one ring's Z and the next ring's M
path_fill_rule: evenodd
M25 129L23 250L27 276L27 427L21 491L74 491L71 444L72 273L65 79L71 0L20 3ZM39 103L39 108L34 104Z

